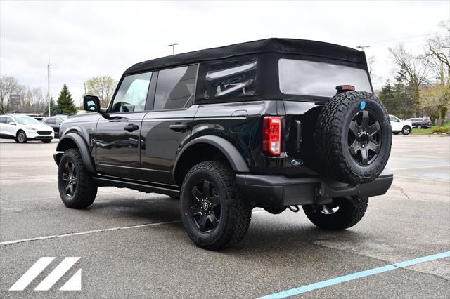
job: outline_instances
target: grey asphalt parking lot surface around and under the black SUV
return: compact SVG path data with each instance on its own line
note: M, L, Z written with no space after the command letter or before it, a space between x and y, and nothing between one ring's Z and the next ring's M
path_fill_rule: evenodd
M257 298L450 251L450 138L393 136L394 183L358 225L328 232L303 213L255 210L238 248L197 248L179 201L103 187L84 210L59 199L56 142L0 142L1 298ZM49 291L8 291L39 258L80 257ZM53 265L53 264L52 264ZM58 289L82 269L81 291ZM449 298L450 258L302 293L304 298Z

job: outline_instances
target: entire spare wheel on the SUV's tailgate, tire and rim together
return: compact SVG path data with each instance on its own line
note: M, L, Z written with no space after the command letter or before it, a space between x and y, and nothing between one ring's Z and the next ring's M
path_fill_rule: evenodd
M335 95L316 121L314 146L321 173L350 184L375 180L389 159L391 134L386 108L375 95Z

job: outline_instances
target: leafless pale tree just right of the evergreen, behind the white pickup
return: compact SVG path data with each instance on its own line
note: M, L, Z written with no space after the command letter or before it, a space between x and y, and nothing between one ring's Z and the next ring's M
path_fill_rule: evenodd
M394 62L400 69L403 69L407 75L407 81L413 88L413 98L417 107L420 105L420 87L427 81L430 69L428 63L423 59L414 57L405 50L403 45L397 48L389 48L394 57ZM420 112L417 112L420 114Z

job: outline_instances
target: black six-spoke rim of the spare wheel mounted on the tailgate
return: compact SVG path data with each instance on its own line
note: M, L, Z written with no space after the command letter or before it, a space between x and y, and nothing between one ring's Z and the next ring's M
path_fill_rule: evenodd
M381 148L381 126L370 110L355 114L349 125L348 148L354 161L369 165L378 157Z

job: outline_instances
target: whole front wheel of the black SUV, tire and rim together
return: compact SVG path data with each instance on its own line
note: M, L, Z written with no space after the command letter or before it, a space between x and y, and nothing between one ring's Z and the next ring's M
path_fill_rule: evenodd
M68 208L87 208L96 199L97 185L84 168L78 149L66 150L58 166L58 189Z

